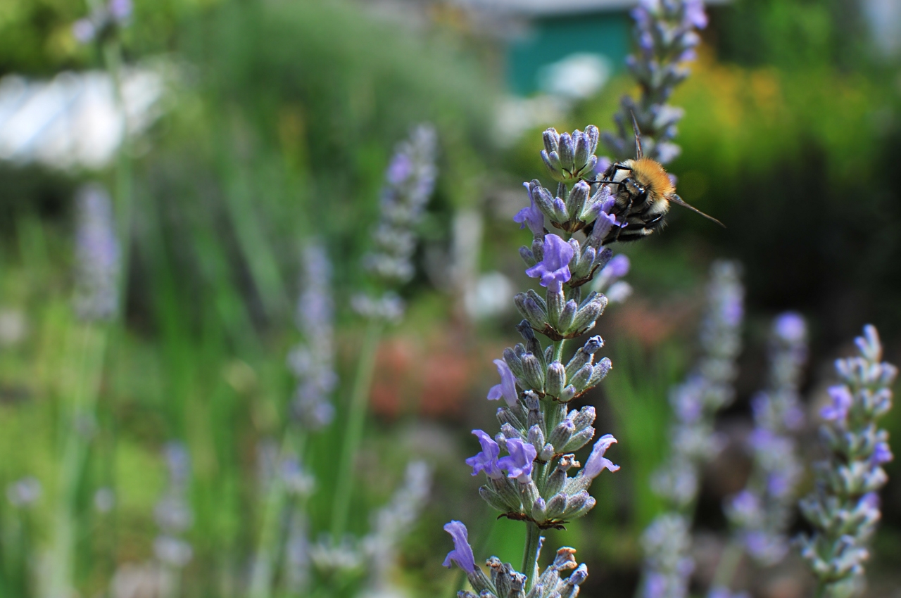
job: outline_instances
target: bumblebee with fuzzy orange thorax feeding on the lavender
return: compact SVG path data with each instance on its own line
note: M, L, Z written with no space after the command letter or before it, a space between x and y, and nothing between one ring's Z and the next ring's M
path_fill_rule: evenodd
M676 195L676 185L660 162L644 157L642 136L634 116L633 128L635 131L635 159L614 162L605 170L600 179L590 181L600 186L610 187L610 196L615 200L611 213L616 216L616 222L624 223L623 227L615 226L609 231L604 237L603 244L639 240L654 231L660 231L666 223L669 204L687 207L692 212L699 213L725 228L723 222L687 204ZM590 232L590 230L587 231L587 233Z

